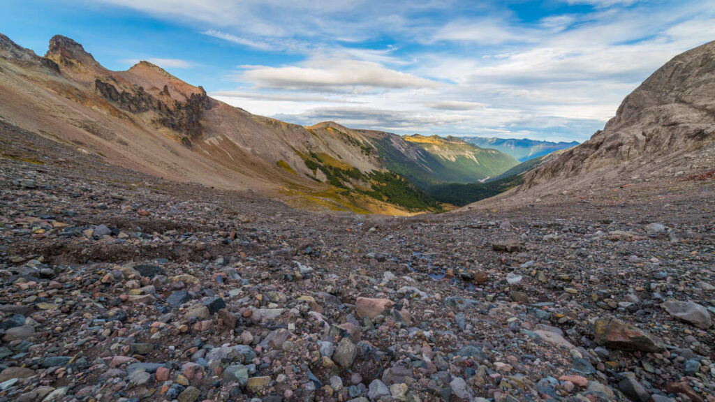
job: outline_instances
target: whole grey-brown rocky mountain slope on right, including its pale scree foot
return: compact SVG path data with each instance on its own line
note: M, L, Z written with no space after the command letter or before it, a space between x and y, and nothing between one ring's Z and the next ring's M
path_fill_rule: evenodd
M629 94L591 139L526 172L502 205L656 186L715 166L715 41L674 57Z

